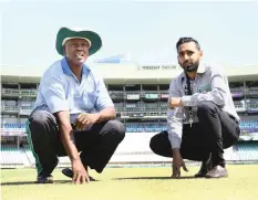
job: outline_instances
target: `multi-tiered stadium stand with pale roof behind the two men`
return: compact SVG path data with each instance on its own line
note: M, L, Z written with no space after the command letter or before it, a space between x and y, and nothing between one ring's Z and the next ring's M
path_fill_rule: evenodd
M172 77L180 69L100 63L93 67L103 75L116 107L116 117L126 127L126 137L111 164L171 161L154 155L148 144L154 134L166 129L167 91ZM225 150L225 157L230 161L258 161L258 66L248 67L249 71L240 72L226 67L234 103L241 118L239 143ZM33 109L40 73L18 75L3 71L1 80L0 164L2 167L34 166L27 143L25 120ZM68 157L60 158L60 166L69 164Z

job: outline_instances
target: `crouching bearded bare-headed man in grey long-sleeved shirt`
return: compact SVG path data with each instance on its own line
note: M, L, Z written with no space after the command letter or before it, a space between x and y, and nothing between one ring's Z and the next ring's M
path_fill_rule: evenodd
M228 80L217 64L200 62L203 52L193 38L176 44L178 63L184 70L169 85L167 130L151 139L151 149L173 157L173 178L180 177L183 159L202 161L195 177L227 177L224 149L239 138Z

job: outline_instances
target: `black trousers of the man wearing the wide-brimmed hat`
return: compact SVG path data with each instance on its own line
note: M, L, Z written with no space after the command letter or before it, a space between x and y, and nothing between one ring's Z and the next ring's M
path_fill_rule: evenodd
M27 134L38 175L51 175L58 157L68 156L54 115L45 110L32 113L27 122ZM74 133L82 162L97 172L103 171L124 136L125 127L116 120L94 124L89 130Z

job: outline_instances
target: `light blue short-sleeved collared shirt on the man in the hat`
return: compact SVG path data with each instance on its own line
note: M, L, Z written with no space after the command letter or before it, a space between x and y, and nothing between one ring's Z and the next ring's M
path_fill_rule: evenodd
M54 114L69 110L71 123L82 112L94 113L114 106L102 78L83 64L81 83L65 57L52 64L43 74L33 110Z

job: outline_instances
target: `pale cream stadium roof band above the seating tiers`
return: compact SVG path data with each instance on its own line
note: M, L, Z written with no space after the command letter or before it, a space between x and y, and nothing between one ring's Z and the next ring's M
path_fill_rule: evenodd
M242 66L224 66L229 81L258 81L258 64ZM14 70L13 70L14 69ZM137 65L94 63L91 69L100 74L106 83L169 83L182 72L178 65ZM43 71L33 67L30 71L22 67L1 66L2 82L10 83L39 83Z

